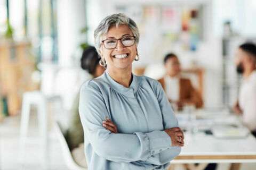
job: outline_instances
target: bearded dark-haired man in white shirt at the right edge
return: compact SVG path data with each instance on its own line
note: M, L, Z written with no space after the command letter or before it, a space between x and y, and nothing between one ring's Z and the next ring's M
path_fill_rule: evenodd
M243 75L243 82L233 112L243 115L243 124L256 137L256 45L239 46L235 63L237 72Z

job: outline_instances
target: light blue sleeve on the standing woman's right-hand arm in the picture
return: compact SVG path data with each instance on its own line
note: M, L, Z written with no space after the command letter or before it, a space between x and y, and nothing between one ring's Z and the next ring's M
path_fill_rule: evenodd
M175 117L173 110L171 108L171 105L159 82L156 88L156 96L157 96L158 103L161 108L161 112L163 116L164 129L177 127L178 126L177 118ZM164 165L166 163L169 163L175 157L177 157L180 154L180 151L181 151L181 147L172 147L171 149L164 150L159 154L150 156L147 159L147 163L151 163L155 165Z

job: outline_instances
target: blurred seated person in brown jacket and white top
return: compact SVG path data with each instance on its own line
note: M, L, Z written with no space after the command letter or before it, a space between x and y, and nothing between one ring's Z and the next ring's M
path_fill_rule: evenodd
M159 79L171 104L176 104L181 110L185 104L194 105L196 108L203 106L199 92L192 86L189 79L180 75L180 62L174 54L167 54L164 58L166 75Z

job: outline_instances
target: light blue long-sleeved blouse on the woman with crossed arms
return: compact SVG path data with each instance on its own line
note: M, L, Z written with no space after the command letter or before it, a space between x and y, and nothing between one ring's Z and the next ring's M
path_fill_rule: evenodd
M89 170L165 169L180 154L164 129L178 126L161 84L132 74L129 88L107 71L81 88L79 114ZM109 117L118 133L102 126Z

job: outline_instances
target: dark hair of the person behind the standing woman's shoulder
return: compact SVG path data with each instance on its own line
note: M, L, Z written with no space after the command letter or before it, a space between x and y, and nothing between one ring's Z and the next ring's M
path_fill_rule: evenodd
M90 74L95 72L97 65L99 64L100 58L95 47L89 46L84 49L81 58L81 67L87 70Z

